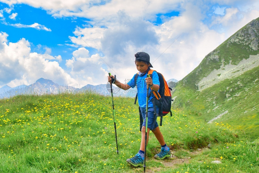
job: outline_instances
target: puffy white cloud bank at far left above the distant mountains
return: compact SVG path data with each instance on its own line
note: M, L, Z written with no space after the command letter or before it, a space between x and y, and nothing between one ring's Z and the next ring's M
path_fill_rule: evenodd
M31 52L30 43L24 38L17 43L7 43L7 34L0 33L0 85L11 87L20 84L30 85L43 77L60 85L78 85L58 62L61 59L48 54ZM2 48L1 48L2 47Z

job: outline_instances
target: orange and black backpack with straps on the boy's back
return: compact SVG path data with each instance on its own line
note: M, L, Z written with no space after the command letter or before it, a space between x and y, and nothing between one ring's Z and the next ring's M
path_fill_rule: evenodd
M151 78L152 78L153 71L155 71L155 70L150 69L148 71L148 74ZM157 71L155 71L155 72L157 72ZM154 94L154 98L152 98L151 101L153 103L153 107L155 107L155 106L160 107L159 113L157 113L156 109L154 109L154 116L157 115L158 117L160 117L160 126L162 126L163 116L167 115L170 112L170 115L172 117L171 102L173 101L173 99L172 99L172 95L170 92L170 90L172 90L172 88L168 87L167 82L161 73L157 72L157 74L158 74L158 78L159 78L159 82L160 82L159 92L153 91L151 88L151 91ZM136 73L134 76L135 84L137 82L138 76L139 76L138 73ZM136 94L134 104L136 104L136 102L137 102L137 97L138 97L138 94ZM149 97L150 97L150 95L149 95ZM141 131L143 118L142 118L140 108L139 108L139 118L140 118L140 131Z

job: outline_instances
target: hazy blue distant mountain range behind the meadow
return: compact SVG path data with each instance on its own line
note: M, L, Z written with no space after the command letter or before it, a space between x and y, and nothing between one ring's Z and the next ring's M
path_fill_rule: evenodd
M170 79L169 81L177 81L176 79ZM169 82L168 81L168 82ZM124 91L118 88L116 85L112 86L114 96L123 97L135 97L136 87ZM19 85L17 87L11 88L8 85L0 88L0 98L10 98L15 95L43 95L43 94L59 94L59 93L77 93L91 91L98 93L100 95L110 95L111 87L110 84L100 84L100 85L86 85L82 88L74 88L71 86L62 86L49 80L40 78L35 83L31 85Z

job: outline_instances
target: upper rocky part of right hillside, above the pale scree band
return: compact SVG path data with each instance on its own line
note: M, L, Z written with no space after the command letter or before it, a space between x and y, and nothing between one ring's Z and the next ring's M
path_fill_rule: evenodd
M182 81L184 83L188 81L189 87L198 90L198 82L202 78L207 77L213 70L224 68L228 64L237 65L243 59L248 59L251 55L257 55L259 53L258 27L259 18L242 27L215 50L206 55L201 63L186 75Z

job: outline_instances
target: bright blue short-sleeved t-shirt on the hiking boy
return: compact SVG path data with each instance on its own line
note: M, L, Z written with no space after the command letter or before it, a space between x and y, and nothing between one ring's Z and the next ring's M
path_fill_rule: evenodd
M144 74L143 76L138 76L136 85L135 85L135 78L134 77L135 77L135 75L130 80L130 82L128 82L127 84L130 85L131 88L134 88L137 85L139 106L140 107L146 107L147 83L145 82L145 78L147 77L147 75ZM155 71L152 73L152 80L153 80L153 84L160 85L158 74ZM149 88L148 93L151 93L150 98L148 100L148 107L153 107L151 99L154 97L154 95L152 94L152 91L151 91L150 88Z

